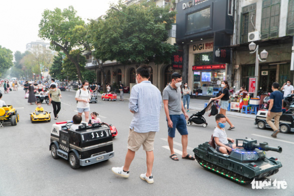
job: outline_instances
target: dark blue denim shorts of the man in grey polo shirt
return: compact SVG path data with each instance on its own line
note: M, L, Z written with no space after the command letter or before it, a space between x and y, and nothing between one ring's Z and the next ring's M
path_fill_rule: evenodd
M175 128L177 129L178 133L183 135L188 135L187 130L187 122L185 119L185 116L183 114L181 115L169 115L171 121L172 121L172 128L170 128L168 125L168 136L171 138L175 137Z

